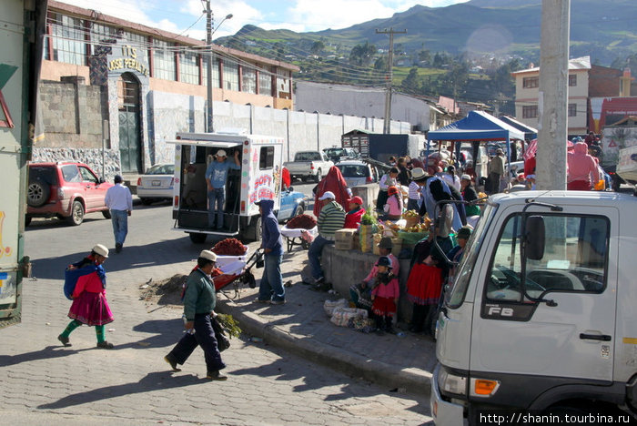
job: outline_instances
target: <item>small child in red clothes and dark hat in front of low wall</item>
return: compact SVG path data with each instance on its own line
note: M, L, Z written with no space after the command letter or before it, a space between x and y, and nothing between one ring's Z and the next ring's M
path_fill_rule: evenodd
M391 273L391 260L388 257L381 257L377 266L376 287L371 290L371 309L376 317L377 332L383 334L383 331L387 331L394 334L391 321L396 314L396 304L400 296L398 277Z

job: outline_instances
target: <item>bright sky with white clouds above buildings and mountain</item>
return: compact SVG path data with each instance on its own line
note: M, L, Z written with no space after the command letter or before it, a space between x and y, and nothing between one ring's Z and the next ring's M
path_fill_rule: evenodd
M204 0L60 0L94 9L127 21L161 28L178 35L206 38ZM289 29L298 33L347 28L377 18L388 18L413 5L443 7L468 0L211 0L213 39L234 35L244 25ZM232 18L222 20L229 14Z

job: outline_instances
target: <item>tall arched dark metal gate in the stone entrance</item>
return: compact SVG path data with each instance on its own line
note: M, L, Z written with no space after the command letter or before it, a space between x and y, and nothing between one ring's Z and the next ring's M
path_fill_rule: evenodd
M124 73L117 82L119 99L119 157L122 172L142 172L141 132L139 126L139 82Z

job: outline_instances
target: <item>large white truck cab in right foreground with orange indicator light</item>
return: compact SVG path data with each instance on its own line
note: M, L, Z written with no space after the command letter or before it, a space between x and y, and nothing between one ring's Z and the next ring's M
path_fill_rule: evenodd
M635 421L635 213L611 192L489 198L438 319L437 425Z

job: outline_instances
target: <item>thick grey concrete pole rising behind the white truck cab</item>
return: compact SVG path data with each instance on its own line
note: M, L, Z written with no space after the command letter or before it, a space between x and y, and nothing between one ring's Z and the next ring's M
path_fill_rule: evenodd
M542 0L537 188L566 189L571 0Z

